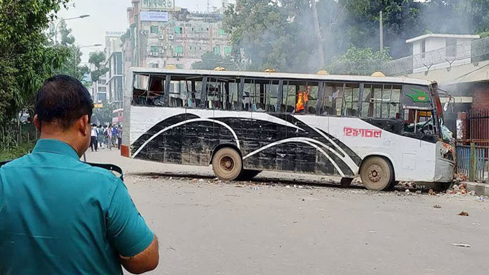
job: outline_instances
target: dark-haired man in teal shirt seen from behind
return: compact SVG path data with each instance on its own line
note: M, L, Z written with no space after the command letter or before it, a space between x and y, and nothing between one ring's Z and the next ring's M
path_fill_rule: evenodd
M156 236L114 174L80 161L93 103L57 75L36 96L32 154L0 168L0 275L140 274L156 268Z

